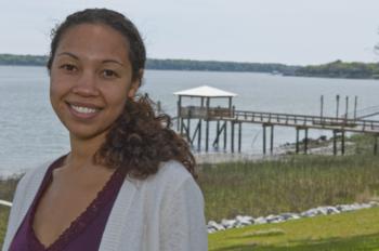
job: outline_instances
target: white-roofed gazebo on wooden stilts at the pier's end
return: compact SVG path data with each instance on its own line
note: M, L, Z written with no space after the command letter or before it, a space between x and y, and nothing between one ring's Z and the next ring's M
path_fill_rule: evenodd
M184 134L187 137L187 141L191 145L193 145L195 137L197 136L197 144L200 148L201 144L201 121L205 120L206 122L206 150L208 150L208 141L209 141L209 121L210 120L217 120L218 121L218 129L217 129L217 140L214 141L213 145L218 145L219 142L219 135L224 130L224 134L226 134L226 121L224 122L224 126L220 129L220 119L225 118L233 118L233 97L237 96L237 94L223 91L217 88L202 85L190 90L179 91L173 93L174 95L178 95L178 131L181 132L181 134ZM183 103L185 101L185 97L190 98L198 98L199 103L197 106L187 105L184 106ZM225 106L211 106L211 100L214 98L224 98L226 100ZM191 133L191 120L196 119L197 124L195 128L195 131L192 135ZM224 136L225 138L225 136ZM226 141L226 138L224 140Z

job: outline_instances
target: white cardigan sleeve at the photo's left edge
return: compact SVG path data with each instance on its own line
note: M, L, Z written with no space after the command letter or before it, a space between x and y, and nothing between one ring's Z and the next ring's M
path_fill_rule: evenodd
M6 234L5 234L4 243L2 247L3 251L6 251L9 249L9 246L11 245L11 241L15 235L15 232L17 230L15 228L17 227L16 222L18 222L21 207L22 207L24 195L25 195L25 179L26 179L26 175L24 175L19 180L19 182L17 184L16 191L15 191L14 197L13 197L13 204L12 204L11 213L10 213L10 216L8 220Z

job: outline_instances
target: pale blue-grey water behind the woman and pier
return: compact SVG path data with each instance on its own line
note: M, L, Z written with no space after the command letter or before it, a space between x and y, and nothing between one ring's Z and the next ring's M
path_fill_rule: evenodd
M282 77L252 72L209 72L147 70L141 92L160 101L162 109L177 115L177 96L172 93L199 85L234 92L233 104L239 110L319 115L324 95L324 115L336 115L336 95L340 114L344 98L350 110L358 96L357 109L379 105L378 80L322 79ZM185 98L198 105L199 100ZM227 105L218 100L211 105ZM214 140L211 126L210 141ZM262 129L244 124L243 151L262 151ZM204 133L202 133L204 135ZM310 137L330 136L329 131L311 130ZM204 135L205 136L205 135ZM295 142L293 128L275 128L275 146ZM202 146L205 144L202 143ZM43 67L0 66L0 175L9 175L56 158L69 150L68 133L55 117L49 101L49 78Z

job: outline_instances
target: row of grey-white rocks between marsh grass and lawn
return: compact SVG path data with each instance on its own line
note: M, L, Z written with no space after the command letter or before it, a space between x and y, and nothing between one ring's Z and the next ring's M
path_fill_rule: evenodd
M279 222L297 220L301 217L313 217L317 215L336 214L336 213L355 211L355 210L367 209L373 207L379 207L379 202L370 201L368 203L338 204L336 207L331 207L331 206L317 207L301 213L282 213L278 215L270 214L269 216L265 216L265 217L260 216L256 219L252 216L237 215L234 220L223 219L221 223L209 221L207 227L208 227L208 233L211 234L218 230L225 230L228 228L239 228L247 225L279 223Z

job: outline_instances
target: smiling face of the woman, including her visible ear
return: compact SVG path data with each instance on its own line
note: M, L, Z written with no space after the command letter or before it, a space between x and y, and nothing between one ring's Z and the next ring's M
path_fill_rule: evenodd
M104 136L132 98L127 39L105 25L81 24L61 38L50 76L53 109L71 136Z

